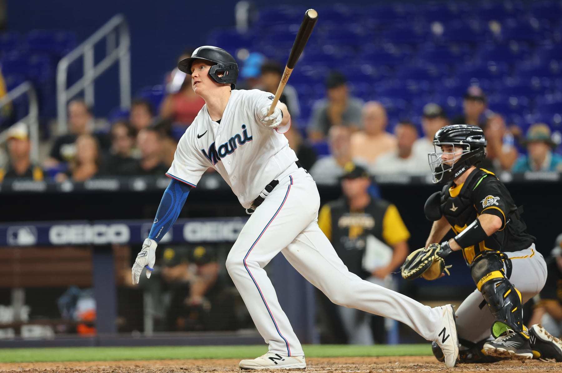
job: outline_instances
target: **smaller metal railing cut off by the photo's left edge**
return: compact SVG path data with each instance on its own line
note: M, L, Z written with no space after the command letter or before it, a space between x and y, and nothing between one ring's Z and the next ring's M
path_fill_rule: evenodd
M37 102L37 94L33 85L29 81L24 81L16 88L8 92L2 99L0 99L0 109L10 104L13 100L21 95L27 94L29 100L28 115L21 118L19 121L24 122L29 126L29 140L31 142L30 157L31 161L39 161L39 105ZM0 144L6 142L8 137L8 130L0 133Z

